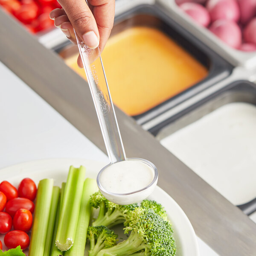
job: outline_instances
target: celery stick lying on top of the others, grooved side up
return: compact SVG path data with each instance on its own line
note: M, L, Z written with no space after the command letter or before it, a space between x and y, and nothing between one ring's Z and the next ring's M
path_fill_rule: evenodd
M70 249L74 243L84 176L85 168L83 166L80 166L80 168L70 166L55 240L58 249L61 251Z

